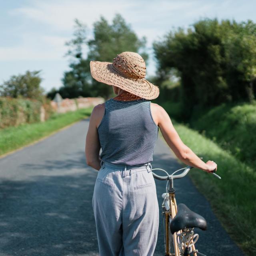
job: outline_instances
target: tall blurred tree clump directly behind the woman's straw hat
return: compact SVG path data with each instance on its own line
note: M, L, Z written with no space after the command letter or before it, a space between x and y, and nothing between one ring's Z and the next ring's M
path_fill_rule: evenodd
M73 98L81 96L102 96L105 99L113 94L110 86L92 79L90 74L90 60L112 62L121 52L138 52L145 61L146 38L139 39L130 25L126 24L120 14L116 14L112 24L101 16L93 24L93 38L86 39L86 25L75 20L74 38L66 43L70 48L67 56L71 57L70 70L64 73L63 86L59 93L62 97ZM84 49L88 49L84 57Z

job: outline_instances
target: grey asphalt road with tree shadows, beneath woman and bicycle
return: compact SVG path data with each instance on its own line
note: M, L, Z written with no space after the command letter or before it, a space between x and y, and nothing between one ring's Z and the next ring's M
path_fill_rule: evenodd
M88 124L89 119L84 119L0 158L0 256L98 255L92 211L98 171L86 165L84 156ZM152 166L169 173L180 167L160 136ZM212 182L225 181L213 176ZM163 256L161 194L166 182L156 180L156 186L160 223L154 255ZM207 256L242 256L190 179L175 180L174 186L177 202L186 204L208 222L207 231L197 229L200 237L196 248Z

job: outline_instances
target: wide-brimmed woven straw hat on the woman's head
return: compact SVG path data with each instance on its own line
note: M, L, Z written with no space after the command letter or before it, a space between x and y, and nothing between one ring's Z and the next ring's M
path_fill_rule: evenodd
M117 86L147 100L159 95L158 86L145 79L146 63L136 52L122 52L113 63L90 61L90 69L92 77L98 82Z

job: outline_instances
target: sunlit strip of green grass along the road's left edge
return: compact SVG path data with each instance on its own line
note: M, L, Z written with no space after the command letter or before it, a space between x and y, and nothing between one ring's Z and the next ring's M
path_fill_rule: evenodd
M90 116L93 107L54 114L46 122L22 124L0 130L0 156L49 136L57 130Z

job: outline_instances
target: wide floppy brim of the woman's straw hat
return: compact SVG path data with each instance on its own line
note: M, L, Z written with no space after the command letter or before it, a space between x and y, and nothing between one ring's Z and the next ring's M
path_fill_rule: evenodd
M117 86L127 92L135 94L147 100L153 100L159 96L158 86L148 80L133 80L118 73L112 67L111 62L90 61L92 77L98 82Z

